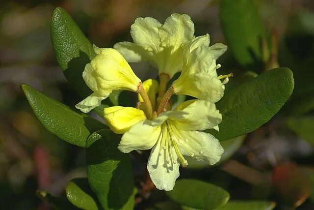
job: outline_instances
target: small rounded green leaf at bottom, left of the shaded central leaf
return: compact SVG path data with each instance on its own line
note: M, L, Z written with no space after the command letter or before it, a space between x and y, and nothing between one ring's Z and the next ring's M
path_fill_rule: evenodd
M92 198L94 193L86 178L71 180L65 187L65 192L68 200L79 209L98 210L97 204Z

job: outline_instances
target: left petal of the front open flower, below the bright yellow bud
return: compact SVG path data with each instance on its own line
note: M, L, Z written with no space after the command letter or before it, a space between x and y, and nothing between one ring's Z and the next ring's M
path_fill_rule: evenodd
M153 126L145 120L133 125L121 138L118 149L128 153L132 150L149 150L161 135L160 126Z

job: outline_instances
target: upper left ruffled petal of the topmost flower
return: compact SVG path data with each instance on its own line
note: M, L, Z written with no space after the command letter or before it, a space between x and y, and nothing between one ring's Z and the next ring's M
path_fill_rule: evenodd
M161 26L161 23L151 17L136 18L131 26L133 41L148 51L159 51L158 29Z

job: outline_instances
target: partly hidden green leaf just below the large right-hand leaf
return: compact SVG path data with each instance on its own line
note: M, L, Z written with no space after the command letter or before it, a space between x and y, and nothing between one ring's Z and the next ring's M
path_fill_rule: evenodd
M223 161L229 159L236 152L236 150L238 150L241 147L245 137L246 135L243 135L220 142L221 146L224 148L225 151L221 155L221 159L219 160L219 162L216 163L215 165L218 165ZM188 162L187 168L202 169L206 167L211 167L211 165L209 165L208 163L204 161L198 161L190 156L186 156L185 159Z

